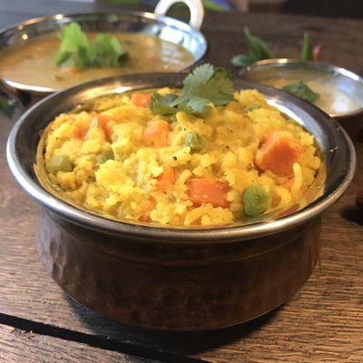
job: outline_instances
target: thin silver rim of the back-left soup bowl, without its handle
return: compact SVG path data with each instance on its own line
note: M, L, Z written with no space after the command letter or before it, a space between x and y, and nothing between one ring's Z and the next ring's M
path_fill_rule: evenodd
M25 26L28 25L34 25L34 24L40 24L42 22L48 22L48 21L56 21L58 19L64 19L64 18L74 18L74 17L81 17L81 16L135 16L140 18L147 18L147 19L153 19L153 20L159 20L162 21L165 25L172 25L176 26L179 29L183 29L187 32L190 32L191 34L196 34L197 38L201 41L201 53L199 56L194 58L194 61L192 64L188 65L185 68L182 68L182 71L185 71L189 68L191 68L193 65L197 64L207 53L208 49L208 43L205 38L205 36L201 33L199 29L196 29L192 27L191 25L182 22L182 20L175 19L171 16L166 15L156 15L150 12L142 12L142 11L133 11L128 9L123 9L122 12L118 13L107 13L107 12L85 12L85 13L72 13L72 14L56 14L56 15L46 15L46 16L38 16L34 17L32 19L25 20L24 22L15 23L14 25L5 26L4 28L0 29L0 39L7 33L11 31L22 30ZM0 51L3 51L5 47L0 46ZM5 84L8 86L14 88L15 90L24 91L28 93L34 93L37 95L47 95L54 92L60 92L64 91L58 90L55 88L50 87L42 87L42 86L32 86L25 83L18 83L11 80L2 80ZM91 81L92 82L92 81Z

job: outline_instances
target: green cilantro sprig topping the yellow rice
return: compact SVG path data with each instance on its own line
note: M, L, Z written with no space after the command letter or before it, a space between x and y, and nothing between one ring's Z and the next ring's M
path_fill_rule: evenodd
M202 64L187 75L183 81L182 93L152 94L152 113L172 115L179 111L189 114L206 114L210 104L223 105L233 100L231 74L225 69Z

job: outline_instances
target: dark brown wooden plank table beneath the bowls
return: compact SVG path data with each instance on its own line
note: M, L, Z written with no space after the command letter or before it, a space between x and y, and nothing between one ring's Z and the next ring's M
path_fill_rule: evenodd
M0 26L100 6L2 0ZM230 66L231 56L244 50L243 25L284 56L299 56L301 34L309 30L314 42L324 44L325 61L363 74L363 22L343 19L208 14L202 29L210 44L206 59ZM44 272L35 247L38 207L5 162L5 140L18 115L0 119L0 362L363 362L363 216L354 207L363 185L362 143L356 142L354 182L324 213L320 266L289 303L231 329L152 332L93 313Z

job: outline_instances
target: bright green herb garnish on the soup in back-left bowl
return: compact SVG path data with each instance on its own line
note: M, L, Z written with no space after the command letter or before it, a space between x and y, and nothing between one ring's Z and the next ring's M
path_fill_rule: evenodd
M110 34L98 34L91 42L77 23L71 23L60 33L62 41L54 63L65 67L119 67L126 59L122 44Z

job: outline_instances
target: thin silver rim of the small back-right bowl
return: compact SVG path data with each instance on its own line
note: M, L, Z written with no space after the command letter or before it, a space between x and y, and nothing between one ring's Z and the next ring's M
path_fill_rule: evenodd
M345 77L348 77L354 81L357 81L358 83L361 83L363 85L363 77L361 77L359 74L356 74L347 68L340 67L335 64L328 64L323 62L312 62L312 61L303 61L301 59L295 59L295 58L270 58L270 59L263 59L261 61L257 61L253 64L250 64L246 68L242 69L240 71L240 76L243 79L244 74L248 74L250 72L258 72L259 69L262 68L269 68L271 66L276 67L283 67L285 64L301 64L304 67L302 68L309 68L309 69L316 69L319 71L322 70L329 70L336 72L338 74L342 74ZM255 81L256 82L256 81ZM348 111L346 113L329 113L330 117L334 118L347 118L351 116L356 116L360 113L363 113L363 106L359 107L358 109Z

